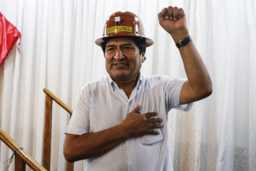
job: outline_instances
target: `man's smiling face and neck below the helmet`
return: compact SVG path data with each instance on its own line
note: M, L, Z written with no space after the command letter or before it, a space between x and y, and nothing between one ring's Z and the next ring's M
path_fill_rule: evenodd
M128 98L137 83L144 54L139 51L133 39L110 39L106 43L106 71Z

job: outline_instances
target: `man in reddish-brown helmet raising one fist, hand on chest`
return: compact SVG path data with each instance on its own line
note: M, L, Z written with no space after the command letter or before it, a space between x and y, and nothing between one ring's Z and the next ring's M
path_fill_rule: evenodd
M140 19L117 12L97 39L109 76L86 84L65 131L67 161L84 160L84 170L173 170L167 113L188 111L212 92L211 78L191 41L181 8L167 7L159 24L170 33L188 80L140 73L146 46Z

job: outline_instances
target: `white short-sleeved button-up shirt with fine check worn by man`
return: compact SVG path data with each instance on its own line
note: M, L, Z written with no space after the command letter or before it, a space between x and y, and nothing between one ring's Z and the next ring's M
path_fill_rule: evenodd
M98 158L84 160L84 170L173 170L167 113L173 108L191 109L192 103L179 104L184 82L185 79L140 74L129 98L109 76L83 86L65 133L82 135L109 129L122 123L137 105L141 106L141 114L157 112L164 125L157 129L159 135L130 138Z

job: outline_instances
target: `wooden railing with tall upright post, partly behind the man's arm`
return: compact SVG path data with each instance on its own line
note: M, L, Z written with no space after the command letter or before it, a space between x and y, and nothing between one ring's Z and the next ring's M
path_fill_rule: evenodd
M60 106L65 109L71 117L73 110L65 105L63 101L61 101L58 97L51 93L47 88L43 90L46 94L45 98L45 138L44 138L44 151L43 151L43 163L42 165L46 168L46 170L50 171L51 166L51 120L52 120L52 100L58 103ZM68 171L74 170L74 163L69 163L67 161L67 169Z

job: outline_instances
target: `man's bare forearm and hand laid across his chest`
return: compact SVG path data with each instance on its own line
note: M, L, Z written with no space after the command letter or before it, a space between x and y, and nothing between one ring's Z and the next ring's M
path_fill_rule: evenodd
M136 106L127 114L124 122L101 132L86 133L83 135L65 135L64 156L67 161L79 161L94 158L109 152L128 138L137 138L144 135L158 135L162 127L161 118L156 112L139 114L140 106ZM156 118L151 118L156 117Z

